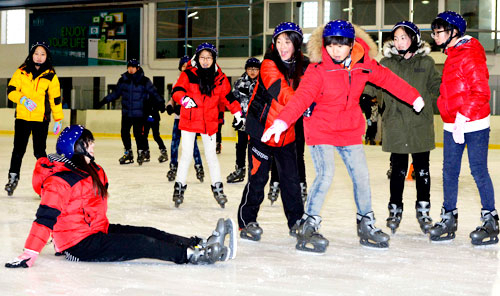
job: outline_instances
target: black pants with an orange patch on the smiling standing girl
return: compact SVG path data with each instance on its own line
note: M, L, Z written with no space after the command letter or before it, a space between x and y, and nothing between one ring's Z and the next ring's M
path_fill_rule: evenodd
M251 138L248 149L249 176L238 207L239 227L244 228L248 223L257 221L260 204L264 200L264 186L269 179L269 167L274 158L280 179L286 180L280 183L280 190L288 227L291 228L304 214L295 143L283 147L271 147L260 140Z

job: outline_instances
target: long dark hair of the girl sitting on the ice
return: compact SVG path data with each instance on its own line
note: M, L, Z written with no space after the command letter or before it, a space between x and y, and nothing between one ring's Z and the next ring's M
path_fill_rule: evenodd
M88 154L87 148L89 143L94 141L94 136L92 132L88 129L84 129L82 135L75 143L75 153L71 157L71 162L80 170L86 172L92 178L92 185L96 195L106 198L108 196L108 189L104 184L102 184L97 174L97 170L100 168L94 162L93 158L90 163L85 160L85 155Z

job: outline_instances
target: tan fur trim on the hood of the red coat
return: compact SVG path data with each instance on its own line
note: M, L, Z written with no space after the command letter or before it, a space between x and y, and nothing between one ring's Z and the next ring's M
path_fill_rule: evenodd
M378 48L377 44L373 39L365 32L365 30L361 29L357 25L353 25L356 34L356 42L359 39L363 40L364 43L369 47L368 56L373 59L377 56ZM322 48L323 48L323 30L325 29L325 25L321 25L317 27L311 34L311 38L307 42L307 54L309 56L309 60L311 63L320 63L323 59L322 56Z

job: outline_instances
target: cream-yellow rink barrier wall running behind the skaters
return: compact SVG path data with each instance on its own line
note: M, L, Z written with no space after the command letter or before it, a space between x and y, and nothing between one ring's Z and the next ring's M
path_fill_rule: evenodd
M63 126L71 122L71 111L64 109ZM0 133L14 134L13 108L0 108ZM76 123L82 124L91 130L96 136L120 137L121 110L77 110ZM231 126L233 116L229 112L224 114L225 123L222 127L222 138L224 140L236 140L236 132ZM174 117L161 114L160 134L164 139L171 139ZM51 125L52 126L52 125ZM443 121L439 115L434 115L434 132L436 145L443 144ZM49 136L52 135L49 128ZM52 135L53 136L53 135ZM152 139L151 132L149 137ZM377 136L379 138L379 135ZM500 149L500 116L491 116L490 149Z

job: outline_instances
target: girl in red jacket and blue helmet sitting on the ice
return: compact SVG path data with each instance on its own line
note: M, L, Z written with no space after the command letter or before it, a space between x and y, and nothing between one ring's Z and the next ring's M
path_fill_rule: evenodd
M31 267L51 234L55 249L70 261L109 262L154 258L175 263L214 263L236 256L234 224L219 219L207 240L151 227L109 224L108 179L94 162L94 137L80 125L64 129L57 153L40 158L33 188L42 200L19 257L5 267ZM224 246L225 236L230 245Z

